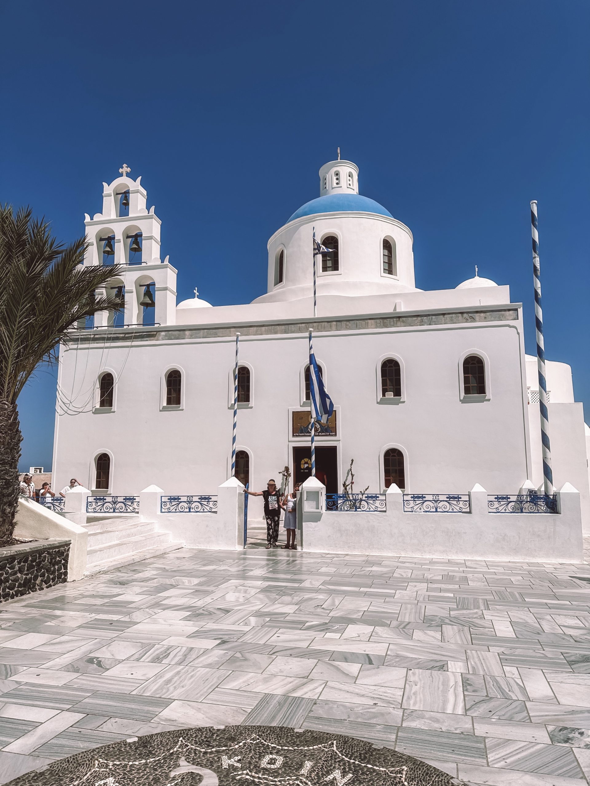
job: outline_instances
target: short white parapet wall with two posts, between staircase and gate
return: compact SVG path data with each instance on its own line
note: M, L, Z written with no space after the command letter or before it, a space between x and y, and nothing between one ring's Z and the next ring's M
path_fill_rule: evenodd
M238 479L230 478L218 487L217 512L162 512L163 496L167 497L157 486L140 492L140 520L155 522L158 531L169 532L173 541L189 548L244 548L244 486Z

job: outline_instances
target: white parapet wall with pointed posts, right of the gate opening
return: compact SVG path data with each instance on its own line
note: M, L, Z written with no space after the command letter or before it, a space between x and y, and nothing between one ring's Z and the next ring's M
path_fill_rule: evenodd
M479 484L469 494L470 512L466 513L404 512L404 495L396 486L385 494L385 511L326 511L325 488L318 480L309 478L302 488L297 527L304 551L584 561L580 494L570 483L556 495L558 513L491 513L489 494Z

